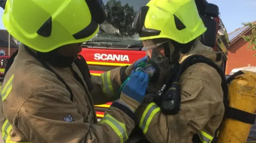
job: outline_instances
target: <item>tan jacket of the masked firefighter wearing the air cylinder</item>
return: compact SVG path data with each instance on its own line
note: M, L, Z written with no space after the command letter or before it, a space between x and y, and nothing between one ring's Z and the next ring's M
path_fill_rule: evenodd
M212 48L197 40L180 62L194 54L204 55L212 61L217 58ZM216 62L217 65L221 63L222 60ZM180 86L180 112L166 116L156 104L142 104L136 111L139 127L152 143L191 143L192 136L197 133L202 143L209 143L224 115L220 75L213 67L197 63L182 74Z

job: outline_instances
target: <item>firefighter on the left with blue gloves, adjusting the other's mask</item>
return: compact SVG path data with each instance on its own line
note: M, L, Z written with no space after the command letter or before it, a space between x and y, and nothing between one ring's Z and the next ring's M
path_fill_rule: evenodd
M8 61L13 60L2 85L4 142L125 141L135 126L134 111L145 95L148 74L132 72L120 100L97 123L94 104L116 100L126 67L90 80L89 71L83 72L85 61L77 58L81 43L93 38L106 19L102 1L7 0L4 8L4 26L22 43Z

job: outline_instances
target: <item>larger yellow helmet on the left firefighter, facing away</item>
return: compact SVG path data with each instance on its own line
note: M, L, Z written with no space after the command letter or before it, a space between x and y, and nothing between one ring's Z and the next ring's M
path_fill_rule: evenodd
M102 0L7 0L2 20L18 41L49 52L92 39L106 15Z

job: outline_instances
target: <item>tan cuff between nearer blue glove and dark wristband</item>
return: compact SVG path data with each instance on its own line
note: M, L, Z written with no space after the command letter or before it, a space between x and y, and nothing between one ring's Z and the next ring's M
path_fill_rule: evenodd
M132 110L132 112L135 112L138 109L138 107L140 106L139 102L130 98L129 96L126 96L123 93L121 93L120 101L124 102L126 105L128 105L129 108Z

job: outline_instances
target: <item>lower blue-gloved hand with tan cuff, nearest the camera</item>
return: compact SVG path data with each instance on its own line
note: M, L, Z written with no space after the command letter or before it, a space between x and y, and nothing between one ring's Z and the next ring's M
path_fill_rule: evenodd
M148 74L132 71L130 79L122 90L120 100L126 103L134 112L143 101L147 87Z

